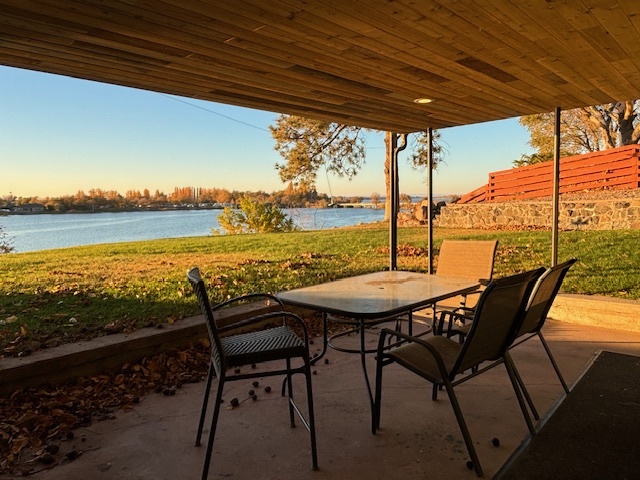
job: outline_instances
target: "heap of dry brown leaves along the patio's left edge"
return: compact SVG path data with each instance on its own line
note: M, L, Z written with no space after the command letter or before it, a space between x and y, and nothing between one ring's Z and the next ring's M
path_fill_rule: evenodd
M37 463L57 463L58 456L72 460L77 452L61 452L59 444L73 437L73 429L112 418L117 409L132 408L149 392L172 395L183 384L200 381L207 375L209 350L203 341L145 357L112 374L0 397L0 473L29 474Z

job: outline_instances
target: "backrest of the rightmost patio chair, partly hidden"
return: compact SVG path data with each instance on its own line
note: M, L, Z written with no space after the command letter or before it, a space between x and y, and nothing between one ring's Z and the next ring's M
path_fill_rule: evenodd
M576 261L577 259L572 258L560 265L548 268L538 279L531 293L527 305L527 313L516 338L527 333L537 332L542 328L551 305L560 291L564 277Z

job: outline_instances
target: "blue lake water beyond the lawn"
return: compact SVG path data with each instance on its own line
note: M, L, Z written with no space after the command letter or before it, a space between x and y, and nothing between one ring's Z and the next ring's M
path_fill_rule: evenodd
M384 209L284 209L304 230L322 230L381 221ZM0 217L5 240L16 252L74 247L96 243L211 235L220 229L222 210L161 212L69 213Z

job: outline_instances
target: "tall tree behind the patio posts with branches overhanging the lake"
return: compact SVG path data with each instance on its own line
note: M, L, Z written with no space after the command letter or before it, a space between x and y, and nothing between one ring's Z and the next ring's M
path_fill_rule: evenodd
M327 172L351 179L365 162L366 129L294 115L280 115L275 125L269 126L269 130L276 141L276 151L285 159L285 163L276 164L280 179L292 182L300 188L315 188L317 172L322 166ZM436 168L442 161L444 151L437 142L440 138L438 132L434 132L433 137L433 167ZM413 136L409 162L415 169L425 168L428 164L427 138L426 132ZM388 161L387 155L384 170L387 218L390 205Z

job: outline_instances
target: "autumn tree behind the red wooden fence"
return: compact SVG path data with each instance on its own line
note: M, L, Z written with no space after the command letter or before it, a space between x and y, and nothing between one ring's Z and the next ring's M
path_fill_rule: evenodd
M580 155L640 143L639 113L640 100L562 112L560 155ZM520 125L529 130L529 145L536 152L514 160L514 165L520 167L553 159L554 116L553 113L539 113L520 118Z

